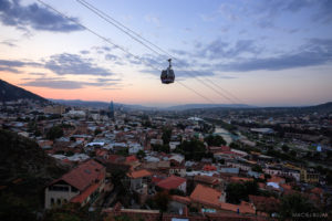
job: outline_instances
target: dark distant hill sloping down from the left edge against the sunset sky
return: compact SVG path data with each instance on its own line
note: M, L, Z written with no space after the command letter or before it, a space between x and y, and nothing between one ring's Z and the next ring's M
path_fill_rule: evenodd
M48 99L33 94L27 90L14 86L0 80L0 102L18 101L18 99L34 99L39 102L48 102Z

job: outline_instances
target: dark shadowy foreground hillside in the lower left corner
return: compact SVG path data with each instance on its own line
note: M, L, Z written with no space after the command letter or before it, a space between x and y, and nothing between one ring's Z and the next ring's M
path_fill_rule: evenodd
M35 220L43 188L65 172L35 141L0 129L0 220Z

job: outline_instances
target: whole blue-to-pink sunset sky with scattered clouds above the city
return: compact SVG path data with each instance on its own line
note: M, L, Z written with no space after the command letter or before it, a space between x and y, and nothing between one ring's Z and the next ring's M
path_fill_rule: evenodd
M148 106L332 101L331 0L84 0L158 53L84 1L43 1L108 40L39 1L0 0L0 78L43 97ZM169 55L176 82L164 85Z

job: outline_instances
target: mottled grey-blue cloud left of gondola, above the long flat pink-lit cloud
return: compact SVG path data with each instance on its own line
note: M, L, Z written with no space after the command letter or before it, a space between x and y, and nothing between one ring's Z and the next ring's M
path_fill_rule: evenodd
M63 53L52 55L50 60L45 62L44 66L59 75L113 75L108 70L98 67L89 59L83 59L77 54Z

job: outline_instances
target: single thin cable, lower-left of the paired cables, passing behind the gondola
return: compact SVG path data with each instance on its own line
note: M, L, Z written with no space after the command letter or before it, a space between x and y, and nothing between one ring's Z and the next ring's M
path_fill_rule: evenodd
M75 19L65 15L64 13L60 12L59 10L56 10L55 8L53 8L52 6L45 3L45 2L42 1L42 0L37 0L37 1L40 2L41 4L43 4L44 7L46 7L46 8L51 9L51 10L53 10L54 12L56 12L58 14L60 14L61 17L63 17L63 18L65 18L65 19L72 21L72 22L74 22L75 24L77 24L77 25L81 27L82 29L84 29L84 30L91 32L92 34L96 35L97 38L104 40L104 41L107 42L108 44L112 44L112 45L115 46L116 49L120 49L121 51L123 51L123 52L129 54L131 56L135 57L136 60L139 60L141 62L145 63L147 66L151 66L152 69L154 69L154 70L156 70L156 71L159 72L159 69L157 69L157 67L154 66L153 64L146 62L145 60L143 60L143 59L139 57L138 55L135 55L135 54L131 53L128 50L125 50L123 46L120 46L120 45L113 43L110 39L106 39L105 36L98 34L97 32L95 32L95 31L93 31L92 29L87 28L86 25L80 23L80 22L76 21ZM198 93L196 90L188 87L187 85L185 85L185 84L181 83L181 82L178 82L178 83L179 83L183 87L185 87L185 88L187 88L187 90L190 90L191 92L194 92L195 94L199 95L200 97L207 99L208 102L211 102L211 103L216 104L216 103L212 102L211 99L209 99L209 98L207 98L206 96L204 96L204 95L201 95L200 93Z

